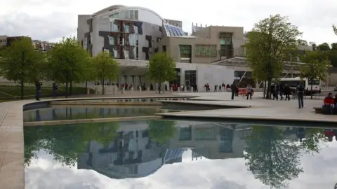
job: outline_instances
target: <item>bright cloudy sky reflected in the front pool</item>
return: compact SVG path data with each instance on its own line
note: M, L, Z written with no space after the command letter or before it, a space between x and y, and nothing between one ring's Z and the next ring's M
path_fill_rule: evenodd
M337 183L337 142L322 146L319 154L300 157L303 173L289 181L289 188L331 189ZM157 172L138 179L110 179L93 170L62 167L53 157L40 152L38 161L25 171L25 188L65 189L269 189L247 170L244 158L192 161L192 151L182 163L164 165ZM62 181L62 183L60 183ZM62 185L60 185L62 184ZM287 187L288 188L288 187ZM284 188L281 188L284 189Z

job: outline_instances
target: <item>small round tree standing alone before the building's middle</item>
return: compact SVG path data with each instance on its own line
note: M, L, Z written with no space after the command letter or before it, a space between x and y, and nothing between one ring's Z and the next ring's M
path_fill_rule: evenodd
M108 79L116 79L119 75L119 63L110 55L103 51L92 58L95 77L102 82L102 94L104 94L104 83Z

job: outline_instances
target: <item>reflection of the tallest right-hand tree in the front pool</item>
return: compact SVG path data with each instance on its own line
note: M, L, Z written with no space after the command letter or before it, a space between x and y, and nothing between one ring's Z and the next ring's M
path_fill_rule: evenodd
M284 140L280 128L253 126L246 144L246 165L256 179L271 188L285 187L286 181L303 172L300 148L292 141Z

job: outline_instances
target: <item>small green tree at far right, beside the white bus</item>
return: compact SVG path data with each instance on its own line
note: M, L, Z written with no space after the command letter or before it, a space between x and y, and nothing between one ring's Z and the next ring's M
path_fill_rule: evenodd
M319 51L306 53L301 57L301 62L305 64L300 66L300 78L308 78L310 80L312 91L313 80L325 80L331 62ZM312 92L310 94L312 99Z

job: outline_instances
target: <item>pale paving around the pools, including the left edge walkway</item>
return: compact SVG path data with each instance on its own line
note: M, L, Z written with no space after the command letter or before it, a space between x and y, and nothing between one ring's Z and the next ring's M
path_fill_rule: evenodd
M205 116L209 118L266 118L266 119L307 119L307 120L329 120L337 122L336 116L326 116L315 114L312 107L322 104L323 99L305 99L304 109L298 109L297 100L273 101L262 99L262 92L256 92L253 100L246 100L244 97L230 99L230 92L200 92L200 93L170 93L155 94L155 92L139 94L115 94L105 96L112 97L173 97L181 95L199 96L194 104L220 104L222 106L238 106L239 109L223 109L211 111L190 111L174 113L183 116ZM85 99L102 97L90 96ZM84 99L84 98L77 98ZM62 99L58 99L62 100ZM74 99L76 100L76 99ZM41 102L48 101L48 99ZM0 186L1 188L24 188L25 187L25 168L24 144L23 144L23 109L22 106L36 102L35 100L22 100L4 102L0 104ZM186 102L181 102L186 103ZM244 108L249 107L249 108ZM165 113L166 114L166 113Z

